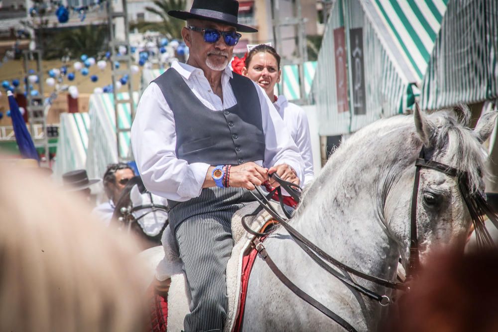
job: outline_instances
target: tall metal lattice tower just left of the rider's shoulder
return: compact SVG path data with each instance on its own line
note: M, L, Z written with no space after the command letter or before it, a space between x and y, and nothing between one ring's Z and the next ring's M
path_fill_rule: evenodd
M133 88L131 83L131 47L129 44L129 23L128 13L126 8L126 0L107 1L107 14L109 24L109 48L111 52L111 77L113 84L113 97L114 97L114 112L116 115L116 146L118 151L118 160L126 162L133 160L133 157L128 154L122 155L120 149L120 139L125 139L122 133L130 132L131 128L124 128L120 126L118 109L120 105L128 106L131 115L131 121L135 117L135 104L133 102ZM120 46L126 48L125 54L119 52ZM116 63L119 63L117 68ZM126 64L126 68L122 68L121 64ZM120 76L127 75L126 90L128 92L128 99L118 100L118 89L116 89L116 81ZM124 88L123 85L123 88ZM131 149L129 150L131 151Z

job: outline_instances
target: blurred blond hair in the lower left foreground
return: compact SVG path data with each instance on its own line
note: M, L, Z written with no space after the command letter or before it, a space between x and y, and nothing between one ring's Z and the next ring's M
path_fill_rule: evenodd
M0 164L0 331L142 331L134 241L76 194Z

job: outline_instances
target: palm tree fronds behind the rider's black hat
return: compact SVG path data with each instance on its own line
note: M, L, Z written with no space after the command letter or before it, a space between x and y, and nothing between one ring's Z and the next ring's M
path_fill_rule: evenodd
M156 7L145 7L150 13L159 15L162 22L136 22L131 28L137 28L140 32L157 31L170 39L181 39L181 30L185 26L182 20L170 17L169 10L185 10L186 0L154 0Z

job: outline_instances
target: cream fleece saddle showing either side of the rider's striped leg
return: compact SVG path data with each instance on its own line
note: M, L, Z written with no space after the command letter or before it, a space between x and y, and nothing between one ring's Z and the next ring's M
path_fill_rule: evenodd
M273 207L281 211L278 203L272 202ZM250 215L258 207L254 202L234 214L232 218L232 236L234 248L231 258L227 264L227 294L228 310L227 321L224 331L233 331L238 318L241 304L241 270L244 255L250 251L250 243L253 235L249 234L242 226L242 218ZM264 210L255 216L248 216L245 221L252 230L260 231L266 229L273 223L271 216ZM167 331L182 331L183 320L189 313L190 292L186 277L182 270L181 260L176 249L174 236L171 229L166 227L162 236L163 246L153 247L145 250L140 255L150 267L155 266L155 276L150 278L153 283L155 295L167 298Z

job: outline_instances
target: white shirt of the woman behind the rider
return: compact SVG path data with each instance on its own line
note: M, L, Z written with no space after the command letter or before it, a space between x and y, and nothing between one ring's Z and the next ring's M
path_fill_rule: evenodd
M301 151L301 157L304 161L304 184L301 187L304 187L304 185L312 181L315 177L308 117L302 108L296 104L289 103L283 95L278 96L277 101L273 105L282 117L294 143L296 143L299 151Z

